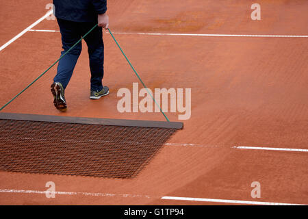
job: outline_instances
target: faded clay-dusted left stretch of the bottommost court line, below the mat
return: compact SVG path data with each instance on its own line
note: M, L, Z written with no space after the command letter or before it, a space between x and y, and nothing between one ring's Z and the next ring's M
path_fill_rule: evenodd
M47 191L37 191L37 190L7 190L3 189L0 192L8 193L27 193L27 194L46 194ZM111 194L111 193L99 193L99 192L51 192L52 194L62 194L62 195L81 195L81 196L104 196L104 197L124 197L124 198L151 198L150 196L142 194Z

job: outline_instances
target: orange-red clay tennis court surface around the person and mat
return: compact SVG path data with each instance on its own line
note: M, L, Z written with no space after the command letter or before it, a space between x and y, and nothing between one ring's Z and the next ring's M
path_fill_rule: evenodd
M43 18L47 3L0 2L1 106L60 57L57 23ZM260 21L251 19L253 3L109 0L110 29L146 86L191 88L190 118L166 113L184 128L136 177L1 171L0 204L307 205L308 1L259 0ZM158 112L118 112L118 90L131 90L138 78L110 34L103 39L109 96L89 99L83 42L67 112L53 107L56 66L1 112L164 121ZM49 181L55 198L45 196ZM255 181L260 198L251 196Z

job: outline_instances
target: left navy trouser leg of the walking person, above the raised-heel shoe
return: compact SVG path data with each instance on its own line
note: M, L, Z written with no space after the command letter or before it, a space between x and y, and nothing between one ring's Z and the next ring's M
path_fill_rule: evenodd
M62 48L63 51L61 55L66 53L70 47L80 40L81 34L79 31L79 24L73 21L65 21L57 18L57 23L60 27L60 32L62 36ZM68 85L70 81L70 77L73 75L73 70L77 63L78 57L81 53L81 42L77 44L74 49L72 49L69 53L67 53L62 59L59 61L57 66L57 75L55 75L53 81L62 83L64 89Z

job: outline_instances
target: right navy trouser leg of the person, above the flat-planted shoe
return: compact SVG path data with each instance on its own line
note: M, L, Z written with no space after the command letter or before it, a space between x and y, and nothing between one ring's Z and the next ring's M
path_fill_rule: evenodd
M85 23L84 31L91 29L95 23ZM91 71L91 90L99 92L103 90L104 75L104 43L103 31L101 27L95 28L88 36L84 38L88 45L88 53Z

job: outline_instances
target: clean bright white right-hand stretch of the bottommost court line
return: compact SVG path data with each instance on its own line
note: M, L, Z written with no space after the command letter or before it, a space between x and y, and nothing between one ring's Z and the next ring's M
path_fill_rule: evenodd
M203 201L209 203L233 203L233 204L246 204L246 205L303 205L303 204L290 204L290 203L269 203L263 201L227 200L227 199L216 199L216 198L186 198L186 197L175 197L175 196L164 196L162 197L162 199L178 200L178 201Z

